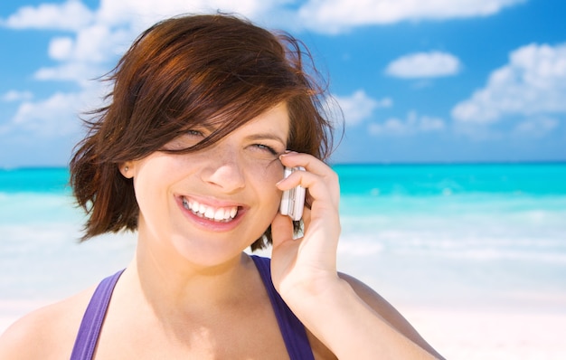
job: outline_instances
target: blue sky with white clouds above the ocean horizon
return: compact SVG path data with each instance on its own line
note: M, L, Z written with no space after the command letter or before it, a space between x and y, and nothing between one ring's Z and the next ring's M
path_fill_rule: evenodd
M562 0L30 0L0 3L0 167L65 166L92 79L217 9L307 43L344 110L336 163L566 160Z

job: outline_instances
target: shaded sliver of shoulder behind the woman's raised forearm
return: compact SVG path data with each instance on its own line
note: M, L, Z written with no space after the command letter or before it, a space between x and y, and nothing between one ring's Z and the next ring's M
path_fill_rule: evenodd
M415 344L429 351L430 354L442 358L442 356L420 336L417 330L410 325L409 321L375 290L350 275L340 273L340 278L347 281L352 289L354 289L355 293L362 298L370 308L373 308L373 311L391 324L392 327L395 327L401 334L410 338Z

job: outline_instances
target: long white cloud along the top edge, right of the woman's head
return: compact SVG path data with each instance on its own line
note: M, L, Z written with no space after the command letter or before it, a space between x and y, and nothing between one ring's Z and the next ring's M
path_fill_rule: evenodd
M526 0L309 0L298 14L305 26L338 33L360 25L443 20L497 14Z

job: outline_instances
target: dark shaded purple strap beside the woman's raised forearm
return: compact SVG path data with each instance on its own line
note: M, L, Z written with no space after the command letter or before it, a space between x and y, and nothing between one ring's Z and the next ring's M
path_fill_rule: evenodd
M303 323L293 314L291 309L288 308L283 298L281 298L275 287L273 287L270 260L255 255L252 255L251 259L256 263L265 289L268 290L269 300L271 300L271 306L275 311L279 330L285 341L285 346L287 346L289 357L291 360L315 360L313 350L308 343L305 326L303 326Z

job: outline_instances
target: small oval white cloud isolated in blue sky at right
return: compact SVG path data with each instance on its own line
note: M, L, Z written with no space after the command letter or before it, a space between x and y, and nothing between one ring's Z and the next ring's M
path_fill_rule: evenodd
M448 52L417 52L394 60L385 73L399 78L435 78L455 75L460 67L458 58Z

